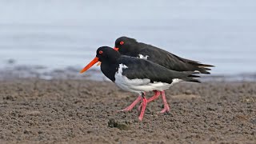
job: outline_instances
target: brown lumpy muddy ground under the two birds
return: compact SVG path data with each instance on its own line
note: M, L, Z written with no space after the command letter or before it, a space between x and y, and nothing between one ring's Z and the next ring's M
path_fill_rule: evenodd
M152 93L147 94L150 97ZM0 82L0 143L256 143L256 83L179 83L150 102L142 122L136 94L112 82Z

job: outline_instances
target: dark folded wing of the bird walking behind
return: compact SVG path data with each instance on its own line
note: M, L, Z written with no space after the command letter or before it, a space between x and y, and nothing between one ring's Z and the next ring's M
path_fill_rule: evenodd
M158 63L161 66L166 67L170 70L177 71L194 71L198 70L202 74L210 74L207 70L210 70L208 67L211 65L202 64L190 59L178 57L175 54L171 54L166 50L162 50L158 47L147 45L140 42L141 50L138 52L144 56L148 55L147 58L151 62Z

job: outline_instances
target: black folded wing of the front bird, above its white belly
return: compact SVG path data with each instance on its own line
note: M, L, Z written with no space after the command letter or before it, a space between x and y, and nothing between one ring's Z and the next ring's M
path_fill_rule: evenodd
M129 79L143 79L148 78L150 82L173 82L174 78L179 78L188 82L198 82L195 77L198 74L193 71L178 72L174 70L168 70L163 66L160 66L154 62L150 62L145 59L134 58L129 56L121 56L118 59L119 64L124 64L127 68L122 70L122 74Z

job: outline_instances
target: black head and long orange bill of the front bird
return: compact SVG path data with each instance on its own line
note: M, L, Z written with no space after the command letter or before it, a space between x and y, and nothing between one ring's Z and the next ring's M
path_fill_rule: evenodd
M121 56L118 51L112 49L109 46L102 46L99 47L96 51L96 57L86 66L84 67L80 73L85 72L86 70L90 69L91 66L94 66L97 62L109 62L114 63L117 59Z

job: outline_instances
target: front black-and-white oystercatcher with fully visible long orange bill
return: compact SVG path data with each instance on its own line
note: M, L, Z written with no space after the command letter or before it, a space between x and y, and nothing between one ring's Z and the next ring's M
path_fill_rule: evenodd
M163 66L145 59L121 55L118 51L108 46L99 47L96 57L80 73L90 69L96 62L102 62L102 73L122 90L139 94L137 100L130 106L132 108L137 102L142 100L139 120L142 120L146 110L148 102L145 97L146 92L166 90L174 83L182 81L199 82L196 79L199 76L194 75L198 74L197 72L168 70Z

